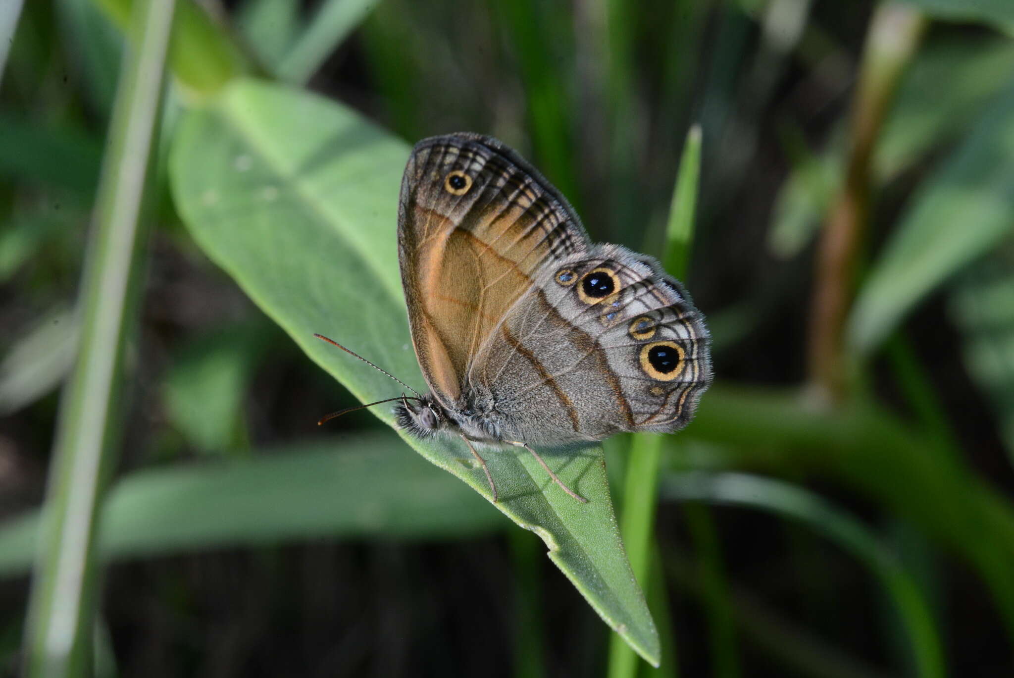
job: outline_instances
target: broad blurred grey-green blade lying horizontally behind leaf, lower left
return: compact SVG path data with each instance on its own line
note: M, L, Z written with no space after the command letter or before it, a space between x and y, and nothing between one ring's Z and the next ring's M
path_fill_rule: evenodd
M320 537L459 539L506 525L390 431L135 471L101 517L104 561ZM38 533L38 512L0 526L0 577L27 570Z

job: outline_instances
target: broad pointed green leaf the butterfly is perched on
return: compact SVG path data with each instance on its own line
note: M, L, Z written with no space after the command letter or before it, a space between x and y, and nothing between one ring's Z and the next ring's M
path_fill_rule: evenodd
M313 337L328 335L423 387L397 268L397 194L405 143L352 111L256 81L182 123L170 157L177 208L205 252L303 350L368 402L402 392L369 365ZM393 424L390 409L374 413ZM403 434L404 435L404 434ZM406 438L491 499L467 448ZM527 453L487 454L496 507L536 532L550 558L642 656L658 636L617 529L600 448L539 451L581 504Z

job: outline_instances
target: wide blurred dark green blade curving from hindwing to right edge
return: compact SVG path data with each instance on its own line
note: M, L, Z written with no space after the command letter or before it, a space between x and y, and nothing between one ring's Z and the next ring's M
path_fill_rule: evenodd
M911 520L976 569L1014 638L1014 511L1009 497L961 460L927 454L932 443L875 404L820 413L799 402L795 391L717 384L701 400L686 434L727 446L727 453L738 453L733 457L737 464L835 474ZM765 445L758 448L757 440ZM940 501L942 496L947 501Z

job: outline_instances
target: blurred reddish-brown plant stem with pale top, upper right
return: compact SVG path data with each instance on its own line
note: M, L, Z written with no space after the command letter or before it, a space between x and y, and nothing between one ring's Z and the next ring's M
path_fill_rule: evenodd
M840 403L848 390L845 325L869 221L873 150L925 26L921 12L893 1L879 5L870 19L853 103L845 181L831 202L814 275L808 372L815 395L824 402Z

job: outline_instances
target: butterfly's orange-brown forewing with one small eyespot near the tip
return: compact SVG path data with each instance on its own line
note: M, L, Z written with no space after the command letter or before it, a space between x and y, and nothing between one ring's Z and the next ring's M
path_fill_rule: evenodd
M590 249L567 201L513 150L452 134L416 144L399 203L399 260L419 364L445 407L473 359L554 262Z

